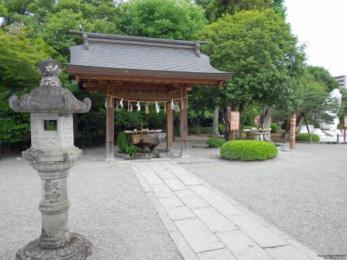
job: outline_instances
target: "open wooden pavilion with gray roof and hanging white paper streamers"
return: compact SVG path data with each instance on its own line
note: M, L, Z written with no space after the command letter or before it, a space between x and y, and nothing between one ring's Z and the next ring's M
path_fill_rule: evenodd
M182 156L188 155L187 91L194 85L221 87L232 73L210 65L200 53L201 44L180 40L105 35L83 35L83 45L70 46L68 73L85 91L106 92L107 160L114 159L114 105L128 102L164 102L167 107L167 148L173 145L171 102L180 102Z

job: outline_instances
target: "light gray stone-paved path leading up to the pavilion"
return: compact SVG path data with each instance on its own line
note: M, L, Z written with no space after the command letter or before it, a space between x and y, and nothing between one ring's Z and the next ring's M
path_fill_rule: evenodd
M318 259L176 162L131 162L131 168L186 260Z

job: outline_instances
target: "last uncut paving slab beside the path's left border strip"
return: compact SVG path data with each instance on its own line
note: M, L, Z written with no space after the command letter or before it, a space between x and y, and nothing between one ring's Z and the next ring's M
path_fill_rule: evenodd
M195 253L225 248L198 218L176 220L174 223Z

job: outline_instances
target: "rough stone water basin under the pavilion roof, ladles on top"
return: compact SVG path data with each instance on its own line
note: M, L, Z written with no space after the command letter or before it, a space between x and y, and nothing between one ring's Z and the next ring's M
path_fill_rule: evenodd
M124 132L131 135L131 143L139 148L139 153L151 153L167 137L167 133L162 130L134 129Z

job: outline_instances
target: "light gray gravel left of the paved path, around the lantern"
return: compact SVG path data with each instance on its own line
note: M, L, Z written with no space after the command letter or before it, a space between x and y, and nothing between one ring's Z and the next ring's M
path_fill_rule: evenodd
M68 178L69 227L93 244L88 259L183 259L131 168L103 162L104 148L83 150ZM0 161L0 259L41 232L40 178L21 157Z

